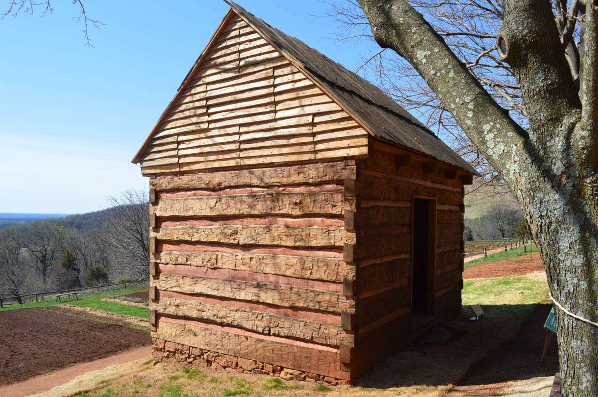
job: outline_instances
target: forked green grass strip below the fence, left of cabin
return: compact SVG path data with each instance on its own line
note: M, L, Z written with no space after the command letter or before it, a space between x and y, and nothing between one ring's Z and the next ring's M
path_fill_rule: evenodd
M132 294L147 290L147 287L133 288L130 290L111 291L109 293L94 294L88 296L82 296L78 300L68 300L62 303L57 301L45 301L45 302L33 302L25 304L12 304L11 306L3 307L3 310L16 310L16 309L28 309L30 307L49 307L56 306L58 304L71 304L73 306L91 307L91 309L102 310L103 312L116 313L127 316L135 316L140 318L149 318L148 307L132 306L129 304L121 304L111 301L103 301L103 298L109 296L121 296L126 294Z

